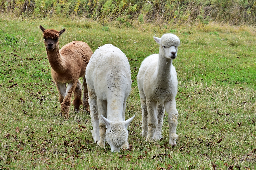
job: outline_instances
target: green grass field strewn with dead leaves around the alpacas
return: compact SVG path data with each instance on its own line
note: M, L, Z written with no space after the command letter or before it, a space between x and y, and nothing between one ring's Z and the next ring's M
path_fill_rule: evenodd
M133 80L126 119L135 114L128 127L130 149L111 153L107 143L98 148L90 115L82 110L71 106L70 119L61 117L39 25L66 28L60 47L79 40L95 51L111 43L126 54ZM255 31L216 23L119 28L82 19L1 16L0 169L255 169ZM181 41L173 61L179 112L175 147L167 145L166 113L163 140L146 142L140 127L136 75L143 59L159 51L153 36L164 33ZM79 125L86 128L80 131Z

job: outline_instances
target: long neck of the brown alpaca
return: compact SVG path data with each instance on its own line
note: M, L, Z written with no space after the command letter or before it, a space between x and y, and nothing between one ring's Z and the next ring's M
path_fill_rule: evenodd
M47 51L47 58L50 63L51 68L57 72L57 73L63 73L66 71L65 68L65 60L64 58L60 55L60 50L59 48L56 48L52 51L46 49Z

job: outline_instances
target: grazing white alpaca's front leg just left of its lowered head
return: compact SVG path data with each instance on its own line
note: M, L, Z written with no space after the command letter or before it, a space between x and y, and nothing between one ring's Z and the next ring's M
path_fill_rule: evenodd
M105 140L106 140L106 125L101 118L101 114L104 117L107 117L107 101L97 100L97 105L99 109L99 127L100 127L100 141L97 143L99 147L105 148Z

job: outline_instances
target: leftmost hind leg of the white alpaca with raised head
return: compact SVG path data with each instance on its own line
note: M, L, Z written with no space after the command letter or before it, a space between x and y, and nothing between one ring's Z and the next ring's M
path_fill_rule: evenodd
M147 102L146 102L146 97L145 95L140 93L141 96L141 109L142 109L142 136L147 136Z

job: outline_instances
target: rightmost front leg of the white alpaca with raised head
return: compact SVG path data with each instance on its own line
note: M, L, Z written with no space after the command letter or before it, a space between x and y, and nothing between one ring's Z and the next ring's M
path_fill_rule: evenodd
M169 124L169 145L176 146L176 140L178 135L176 134L176 128L178 125L178 111L176 109L175 99L164 103L164 108L168 113Z

